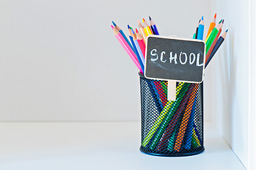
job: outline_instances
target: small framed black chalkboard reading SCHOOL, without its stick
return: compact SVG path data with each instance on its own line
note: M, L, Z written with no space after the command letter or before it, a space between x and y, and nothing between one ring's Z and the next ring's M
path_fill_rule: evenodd
M202 40L149 35L144 75L148 79L203 81L206 44Z

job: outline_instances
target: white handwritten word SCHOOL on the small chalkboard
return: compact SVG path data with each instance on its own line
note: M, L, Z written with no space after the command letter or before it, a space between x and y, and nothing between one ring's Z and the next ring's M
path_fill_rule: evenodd
M166 52L162 51L160 54L160 61L161 62L166 62ZM156 60L159 60L159 55L156 53L156 49L151 50L150 52L150 56L151 56L151 61L155 62ZM190 53L189 55L186 54L186 52L181 52L179 54L179 57L177 56L177 53L170 52L169 55L169 62L174 64L178 64L177 60L181 63L181 64L186 64L187 62L189 64L193 64L194 62L196 62L196 66L197 67L202 67L203 63L199 63L200 62L200 53L198 53L197 55L195 55L194 53Z

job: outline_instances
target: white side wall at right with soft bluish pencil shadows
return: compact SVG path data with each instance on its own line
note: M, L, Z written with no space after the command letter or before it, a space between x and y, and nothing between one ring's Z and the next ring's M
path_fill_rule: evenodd
M248 167L249 1L216 0L212 10L225 18L228 36L210 65L213 122ZM212 74L213 75L213 74Z

